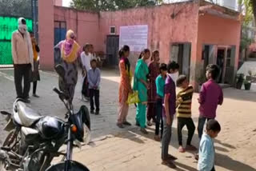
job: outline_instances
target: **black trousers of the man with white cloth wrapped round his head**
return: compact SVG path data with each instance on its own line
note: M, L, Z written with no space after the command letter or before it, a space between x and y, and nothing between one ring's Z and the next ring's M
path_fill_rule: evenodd
M31 77L30 64L14 64L14 83L15 83L17 97L24 98L24 99L29 97L30 77ZM22 80L23 80L23 88L22 88Z

